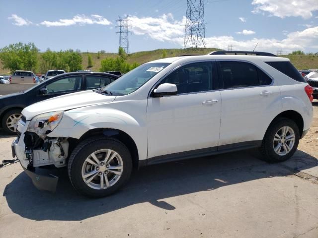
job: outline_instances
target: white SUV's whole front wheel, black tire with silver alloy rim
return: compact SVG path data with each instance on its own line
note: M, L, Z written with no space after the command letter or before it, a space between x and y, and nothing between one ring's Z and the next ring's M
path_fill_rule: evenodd
M80 194L104 197L129 180L132 166L131 154L119 140L92 137L82 141L72 152L68 174Z

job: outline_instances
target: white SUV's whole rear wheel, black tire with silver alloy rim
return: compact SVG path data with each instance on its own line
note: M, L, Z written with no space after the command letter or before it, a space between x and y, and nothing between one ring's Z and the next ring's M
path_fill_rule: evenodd
M280 118L274 121L264 136L260 152L267 162L282 162L292 157L300 139L295 121Z

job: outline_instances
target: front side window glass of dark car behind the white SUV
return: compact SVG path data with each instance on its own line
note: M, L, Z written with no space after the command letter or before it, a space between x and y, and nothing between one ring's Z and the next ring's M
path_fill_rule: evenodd
M73 77L62 78L53 83L50 83L46 86L46 88L48 89L47 94L79 91L81 78L81 75L77 75Z

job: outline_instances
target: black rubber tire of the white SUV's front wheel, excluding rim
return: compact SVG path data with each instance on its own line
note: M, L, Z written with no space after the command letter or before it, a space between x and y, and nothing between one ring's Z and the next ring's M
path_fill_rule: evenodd
M93 152L101 149L116 151L123 161L121 177L112 186L105 189L94 189L82 179L82 166L85 159ZM116 192L130 178L133 168L132 157L127 147L117 139L109 137L91 137L82 141L72 152L68 163L68 174L73 187L88 197L104 197ZM106 173L106 172L105 172Z

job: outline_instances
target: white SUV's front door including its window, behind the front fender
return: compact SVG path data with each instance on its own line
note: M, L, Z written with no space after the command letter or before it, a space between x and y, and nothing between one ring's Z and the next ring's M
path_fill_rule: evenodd
M212 71L211 61L191 63L160 81L176 84L178 94L148 98L148 158L212 147L216 150L221 95L214 90L217 83Z

